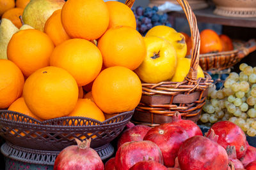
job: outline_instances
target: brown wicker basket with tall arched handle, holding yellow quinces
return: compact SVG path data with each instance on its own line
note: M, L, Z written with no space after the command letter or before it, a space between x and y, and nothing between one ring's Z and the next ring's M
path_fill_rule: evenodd
M132 118L139 124L153 126L170 122L176 111L179 111L183 118L190 118L196 122L205 104L207 88L212 83L211 76L207 73L205 78L196 79L200 51L200 34L196 17L186 0L177 0L177 2L182 6L191 30L191 67L182 82L142 83L141 102Z

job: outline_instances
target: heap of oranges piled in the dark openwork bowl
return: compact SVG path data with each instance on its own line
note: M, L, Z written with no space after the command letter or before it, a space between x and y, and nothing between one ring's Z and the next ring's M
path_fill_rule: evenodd
M13 8L11 0L4 1L13 11L0 4L0 15L7 10L4 15L13 18L28 3L17 0L19 8ZM44 32L13 34L8 60L0 60L0 109L40 121L78 116L101 122L134 110L142 88L133 70L145 53L136 19L125 4L68 0L48 18Z

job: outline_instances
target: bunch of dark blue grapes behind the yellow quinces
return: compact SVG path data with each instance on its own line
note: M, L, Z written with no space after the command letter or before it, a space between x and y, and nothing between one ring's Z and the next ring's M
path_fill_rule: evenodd
M147 7L143 9L141 6L132 8L132 11L136 18L137 31L139 31L143 36L156 25L166 25L172 27L168 22L168 15L164 13L159 15L157 13L158 8L154 6L153 8Z

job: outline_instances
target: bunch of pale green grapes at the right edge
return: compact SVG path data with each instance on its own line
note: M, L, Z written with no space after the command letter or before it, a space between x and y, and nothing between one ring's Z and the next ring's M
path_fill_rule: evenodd
M216 90L215 85L209 88L200 121L213 124L228 120L248 136L256 136L256 67L243 63L239 69L239 74L229 74L222 89Z

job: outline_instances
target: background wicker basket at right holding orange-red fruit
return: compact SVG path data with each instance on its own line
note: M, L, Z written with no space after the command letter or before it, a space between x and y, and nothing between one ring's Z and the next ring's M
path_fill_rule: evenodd
M199 64L204 71L220 71L234 66L241 59L246 57L246 55L255 50L255 39L250 39L250 41L246 43L237 42L237 48L230 52L200 54Z

